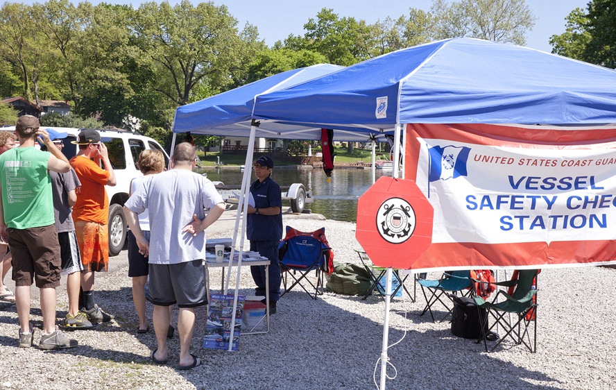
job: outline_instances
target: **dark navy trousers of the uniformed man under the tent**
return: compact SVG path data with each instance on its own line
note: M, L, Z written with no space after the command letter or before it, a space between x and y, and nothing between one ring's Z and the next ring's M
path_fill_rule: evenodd
M259 252L260 255L270 260L270 300L274 301L280 298L280 283L282 282L278 261L278 244L280 244L280 241L250 241L250 251ZM250 266L250 273L252 273L255 285L257 285L255 295L265 296L265 266Z

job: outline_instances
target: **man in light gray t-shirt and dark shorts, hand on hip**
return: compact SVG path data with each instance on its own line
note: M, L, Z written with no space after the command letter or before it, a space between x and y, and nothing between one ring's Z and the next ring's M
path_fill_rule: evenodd
M135 234L139 253L148 256L149 282L146 298L154 304L153 323L158 347L150 357L157 364L167 361L166 334L169 306L178 304L180 362L187 370L201 364L191 355L194 308L207 305L205 229L225 211L223 198L214 184L198 173L194 146L182 142L171 157L171 170L158 173L137 189L124 205L124 215ZM138 214L149 210L150 240L139 227ZM205 214L205 209L209 212ZM203 234L202 234L203 233Z

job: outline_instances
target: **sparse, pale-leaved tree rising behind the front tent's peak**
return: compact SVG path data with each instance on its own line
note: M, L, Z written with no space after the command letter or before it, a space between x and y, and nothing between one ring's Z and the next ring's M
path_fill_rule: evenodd
M434 0L430 12L436 39L466 36L524 45L536 20L524 0Z

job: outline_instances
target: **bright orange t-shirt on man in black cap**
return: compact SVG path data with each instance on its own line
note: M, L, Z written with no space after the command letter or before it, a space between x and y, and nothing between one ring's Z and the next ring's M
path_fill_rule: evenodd
M75 190L77 202L73 206L74 221L92 221L106 225L109 219L109 201L105 184L109 180L109 172L83 155L71 158L70 163L81 182L81 187Z

